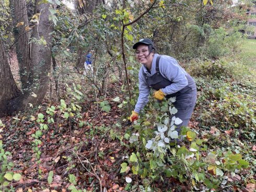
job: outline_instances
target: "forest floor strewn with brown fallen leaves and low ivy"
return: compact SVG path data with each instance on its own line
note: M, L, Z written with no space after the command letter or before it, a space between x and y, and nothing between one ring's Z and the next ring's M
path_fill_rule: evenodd
M250 46L255 46L256 41L248 40L248 42L252 43ZM250 57L250 61L253 62L254 52L251 49L244 50L241 57ZM11 70L16 80L19 79L17 65L17 59L11 58ZM255 173L253 166L256 164L255 138L250 140L249 138L253 135L248 135L251 133L239 135L237 133L239 129L227 126L232 121L232 116L222 116L223 111L220 111L221 107L218 108L215 102L216 95L219 94L211 89L215 81L209 84L207 80L199 78L197 83L201 98L199 101L202 101L205 95L210 96L204 99L204 102L197 103L189 127L199 133L211 135L209 146L212 148L223 145L225 148L243 153L251 165L249 169L239 174L227 174L230 186L218 190L253 192L256 181L256 176L253 175ZM216 81L216 84L218 83L219 81ZM240 85L230 83L235 87ZM245 85L237 88L238 91L243 90L243 86ZM9 161L14 162L11 170L22 175L20 181L10 181L6 186L6 191L8 188L9 191L64 192L72 190L72 186L82 191L140 191L139 189L125 189L127 186L125 176L120 174L121 163L124 162L127 154L133 151L132 148L125 147L129 145L129 140L124 139L126 130L133 129L133 126L126 122L129 114L122 110L120 103L113 101L117 97L125 100L121 87L121 82L108 85L105 97L111 108L109 112L104 112L94 96L87 94L86 101L80 103L82 106L80 116L72 119L65 118L60 108L57 108L60 106L58 101L48 96L40 108L30 113L2 118L5 127L0 129L0 139L3 139L4 150L11 153ZM219 87L217 89L221 90ZM255 95L255 90L251 91L251 94ZM228 93L225 94L227 97ZM49 114L46 113L48 107L51 106L56 107L52 122ZM39 121L42 119L39 118L41 114L45 122L50 119L47 128L40 125L45 122L37 122L38 119ZM224 119L223 122L219 120L221 118ZM220 142L219 138L228 139L224 143ZM53 172L52 178L49 177L51 171ZM52 181L50 182L49 179ZM165 182L155 183L154 187L155 191L192 190L189 182L181 183L172 177L166 178ZM76 190L73 189L73 191Z

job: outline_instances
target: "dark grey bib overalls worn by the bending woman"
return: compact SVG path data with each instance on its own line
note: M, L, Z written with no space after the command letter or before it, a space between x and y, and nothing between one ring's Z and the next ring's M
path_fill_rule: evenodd
M150 88L155 90L159 90L171 85L171 81L164 78L159 70L159 59L161 55L159 55L156 59L156 73L149 77L146 73L143 73L146 83ZM188 126L189 119L194 110L195 102L196 102L196 85L194 79L187 73L186 75L188 79L188 86L184 87L180 91L166 95L166 98L169 99L171 97L176 97L176 102L174 102L174 106L178 110L174 116L179 117L183 122L176 127L176 130L180 132L181 126Z

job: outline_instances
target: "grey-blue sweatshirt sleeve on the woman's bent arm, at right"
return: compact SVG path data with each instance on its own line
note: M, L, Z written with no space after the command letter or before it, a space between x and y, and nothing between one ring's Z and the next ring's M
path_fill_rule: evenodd
M162 56L159 61L160 73L170 80L171 85L162 88L165 94L172 94L180 91L188 85L187 72L172 57Z

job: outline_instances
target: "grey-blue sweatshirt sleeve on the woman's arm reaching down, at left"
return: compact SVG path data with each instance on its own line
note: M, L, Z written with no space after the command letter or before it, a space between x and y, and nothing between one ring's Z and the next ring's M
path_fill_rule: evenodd
M139 95L138 100L135 105L134 111L139 113L143 110L144 106L148 103L148 95L150 92L150 88L148 87L145 78L143 77L142 70L139 70L138 80L139 80Z

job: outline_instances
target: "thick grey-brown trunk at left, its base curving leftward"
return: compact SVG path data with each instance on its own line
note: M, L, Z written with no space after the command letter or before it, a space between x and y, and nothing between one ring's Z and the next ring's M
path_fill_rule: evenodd
M25 4L26 0L20 0L19 3ZM23 94L18 95L18 97L8 100L7 105L3 105L1 111L8 111L9 114L19 111L25 111L28 106L38 105L43 100L46 91L48 90L49 84L49 73L51 67L51 35L53 31L52 21L49 21L50 4L44 4L40 0L36 1L35 14L40 14L39 23L33 27L31 43L31 66L29 71L31 71L31 78L29 78L29 91L23 92ZM19 13L22 14L20 11ZM21 18L21 15L16 15ZM20 38L24 38L21 35ZM38 42L37 42L38 41ZM42 43L44 41L45 43ZM27 53L27 52L25 52ZM25 54L24 53L24 54ZM2 51L1 51L2 54ZM21 55L22 58L26 55ZM9 79L4 77L3 81L7 82ZM2 87L0 92L13 91L14 88ZM5 99L7 100L7 99Z

